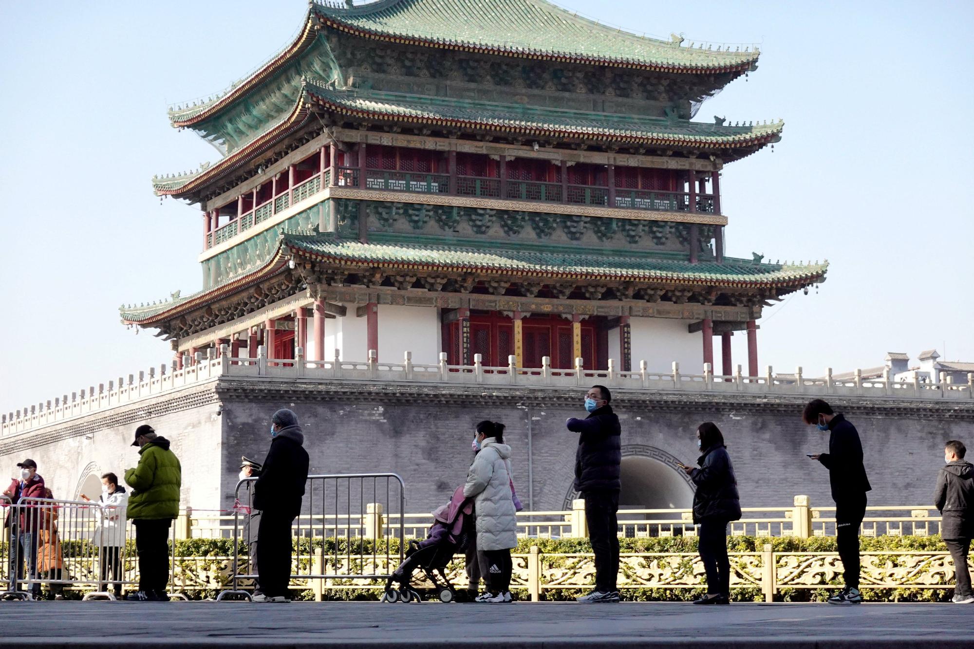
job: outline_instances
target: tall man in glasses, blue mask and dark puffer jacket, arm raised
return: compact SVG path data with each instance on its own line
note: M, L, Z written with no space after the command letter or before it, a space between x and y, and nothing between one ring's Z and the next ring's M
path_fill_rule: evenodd
M585 394L584 419L565 425L580 433L575 453L575 490L585 501L588 539L595 554L595 590L577 597L584 604L618 602L618 491L621 486L621 427L612 410L612 394L593 385Z

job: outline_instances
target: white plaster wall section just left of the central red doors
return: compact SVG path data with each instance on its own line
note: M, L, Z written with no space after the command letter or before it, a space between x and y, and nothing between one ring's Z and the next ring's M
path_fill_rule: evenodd
M434 365L439 363L441 346L438 309L379 305L380 360L402 363L403 353L410 351L413 363Z

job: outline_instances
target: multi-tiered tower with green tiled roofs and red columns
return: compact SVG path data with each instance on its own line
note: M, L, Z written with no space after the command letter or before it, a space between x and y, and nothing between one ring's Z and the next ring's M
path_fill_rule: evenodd
M180 366L228 345L699 371L718 336L724 374L746 331L755 376L764 307L827 267L724 254L720 172L783 123L692 118L758 57L543 0L313 2L279 55L170 110L222 154L153 179L202 209L203 287L123 322Z

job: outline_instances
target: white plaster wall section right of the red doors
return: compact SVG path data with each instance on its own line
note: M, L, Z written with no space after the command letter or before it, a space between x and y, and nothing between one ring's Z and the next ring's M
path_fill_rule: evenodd
M668 318L631 318L632 368L639 369L639 362L646 361L651 372L669 372L676 361L682 373L702 374L703 334L688 333L687 326L692 323Z

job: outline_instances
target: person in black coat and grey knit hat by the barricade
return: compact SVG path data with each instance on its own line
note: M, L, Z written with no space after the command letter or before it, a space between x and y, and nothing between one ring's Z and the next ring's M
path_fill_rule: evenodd
M257 528L257 572L264 596L260 601L287 602L291 576L291 525L301 513L308 452L298 418L282 408L271 417L271 449L253 486L253 506L260 510Z

